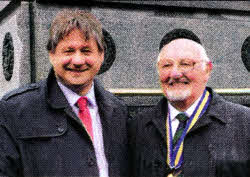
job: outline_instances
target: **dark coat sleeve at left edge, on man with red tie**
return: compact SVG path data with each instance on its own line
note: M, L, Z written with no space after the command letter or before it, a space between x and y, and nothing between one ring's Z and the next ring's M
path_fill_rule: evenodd
M0 101L0 176L22 176L18 145L7 123L8 118L7 108Z

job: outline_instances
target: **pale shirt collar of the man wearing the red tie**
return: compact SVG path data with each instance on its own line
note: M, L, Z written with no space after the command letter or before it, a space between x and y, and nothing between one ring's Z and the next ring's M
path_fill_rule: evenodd
M63 83L57 80L57 83L62 90L64 96L66 97L67 101L69 102L69 105L71 107L75 106L78 99L81 97L77 93L73 92L71 89L66 87ZM88 103L90 106L96 106L96 99L95 99L95 91L94 91L94 82L92 83L92 86L88 93L85 95L88 98Z

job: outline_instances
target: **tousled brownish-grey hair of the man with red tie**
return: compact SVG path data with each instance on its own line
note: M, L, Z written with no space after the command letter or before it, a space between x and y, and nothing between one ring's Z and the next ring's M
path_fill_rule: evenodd
M99 52L104 51L105 44L100 21L90 12L82 10L63 10L56 15L51 23L47 50L54 53L58 43L74 29L79 29L85 40L93 37Z

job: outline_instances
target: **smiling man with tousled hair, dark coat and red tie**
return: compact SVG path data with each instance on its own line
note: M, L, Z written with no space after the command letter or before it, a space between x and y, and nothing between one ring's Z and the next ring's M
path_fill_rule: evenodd
M1 101L0 176L128 176L127 107L94 79L104 60L100 22L60 12L47 49L48 78Z

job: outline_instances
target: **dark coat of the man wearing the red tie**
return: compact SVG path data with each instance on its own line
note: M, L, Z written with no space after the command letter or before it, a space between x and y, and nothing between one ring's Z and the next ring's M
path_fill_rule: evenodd
M128 176L126 105L95 81L110 176ZM57 85L46 81L3 97L0 176L98 176L94 147Z

